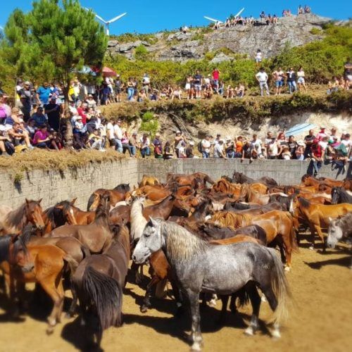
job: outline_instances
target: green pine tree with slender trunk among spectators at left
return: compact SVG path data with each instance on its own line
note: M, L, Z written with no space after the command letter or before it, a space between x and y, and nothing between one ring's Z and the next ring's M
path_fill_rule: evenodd
M103 26L78 0L37 0L27 14L15 9L4 32L1 54L13 64L15 74L61 82L66 108L75 72L83 65L101 66L107 46ZM68 118L65 123L66 145L72 146Z

